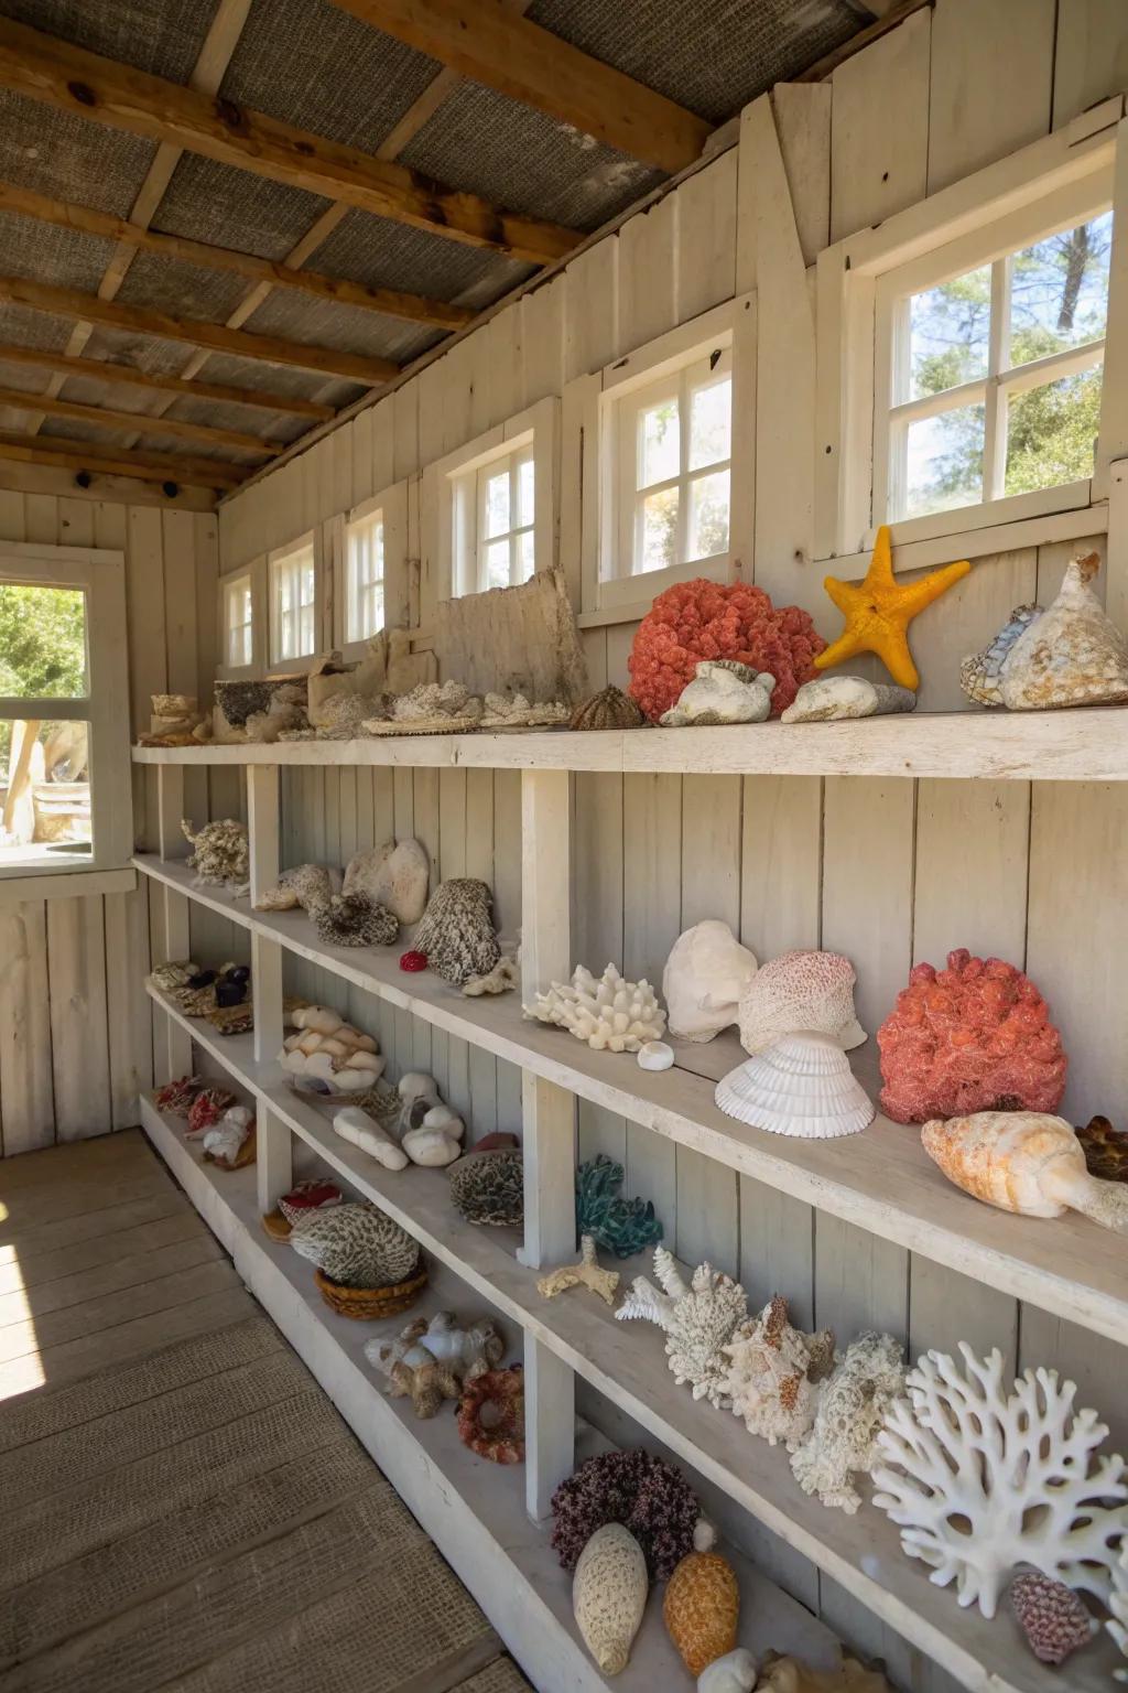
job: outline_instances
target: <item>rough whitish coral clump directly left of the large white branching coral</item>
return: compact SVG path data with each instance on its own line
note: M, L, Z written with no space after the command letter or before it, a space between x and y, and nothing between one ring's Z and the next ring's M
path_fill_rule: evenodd
M878 1458L878 1431L905 1388L901 1343L891 1334L859 1334L819 1388L815 1422L791 1458L803 1493L854 1515L861 1493L854 1475L869 1475Z

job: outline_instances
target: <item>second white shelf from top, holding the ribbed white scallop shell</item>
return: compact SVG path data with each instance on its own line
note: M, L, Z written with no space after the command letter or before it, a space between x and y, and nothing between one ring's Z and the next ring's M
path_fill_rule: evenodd
M915 1129L883 1116L839 1141L793 1141L724 1116L714 1085L744 1056L734 1036L705 1046L675 1041L673 1070L639 1070L629 1056L590 1051L561 1029L524 1019L517 994L467 999L430 972L401 972L399 946L328 946L303 911L259 913L222 889L193 887L183 862L140 855L134 863L252 933L616 1116L1096 1334L1123 1341L1128 1332L1128 1260L1086 1217L1071 1212L1042 1221L993 1210L940 1175ZM230 1041L206 1023L183 1021L223 1062ZM876 1075L868 1073L874 1058L856 1062L871 1097L878 1092Z

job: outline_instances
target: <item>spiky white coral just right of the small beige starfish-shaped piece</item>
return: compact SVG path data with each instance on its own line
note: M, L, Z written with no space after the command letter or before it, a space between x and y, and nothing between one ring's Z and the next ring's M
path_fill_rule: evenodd
M687 1287L665 1246L654 1248L654 1275L661 1292L644 1275L636 1277L616 1317L641 1317L665 1329L666 1358L678 1387L688 1381L693 1398L727 1410L722 1348L747 1317L744 1288L712 1265L698 1265Z

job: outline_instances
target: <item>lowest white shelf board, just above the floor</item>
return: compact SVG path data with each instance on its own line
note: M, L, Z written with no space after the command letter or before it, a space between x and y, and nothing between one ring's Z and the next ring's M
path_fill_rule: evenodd
M152 1099L142 1097L140 1111L145 1134L232 1253L252 1293L470 1588L506 1646L536 1676L541 1693L607 1693L611 1683L577 1635L572 1576L551 1551L550 1524L534 1524L526 1515L521 1470L490 1464L467 1451L450 1407L421 1422L409 1400L387 1398L381 1390L364 1358L364 1343L377 1334L397 1334L402 1319L355 1322L328 1310L311 1266L262 1233L254 1168L228 1173L206 1165L186 1143L176 1119L162 1116ZM428 1288L416 1312L428 1314L457 1300L458 1290L452 1292L441 1275L433 1280L436 1285ZM489 1297L504 1309L492 1293ZM577 1432L578 1459L605 1448L594 1431ZM741 1641L758 1656L776 1649L832 1666L837 1642L829 1629L753 1569L746 1558L731 1549L727 1556L741 1583ZM653 1590L631 1663L614 1681L624 1693L651 1693L685 1681L660 1612L661 1593Z

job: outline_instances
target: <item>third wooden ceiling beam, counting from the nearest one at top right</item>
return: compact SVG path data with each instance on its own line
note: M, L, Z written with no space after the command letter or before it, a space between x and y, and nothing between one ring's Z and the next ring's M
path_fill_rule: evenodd
M14 183L0 183L0 212L15 212L19 217L54 223L59 229L74 229L83 235L118 240L142 252L152 252L159 259L179 259L208 271L233 271L252 283L293 288L296 293L309 295L323 303L360 306L364 312L381 312L411 323L433 323L436 328L455 330L465 328L474 317L467 306L446 305L443 300L406 295L396 288L365 288L364 283L320 276L315 271L294 271L272 259L233 252L230 247L211 247L201 240L189 240L186 235L166 235L154 229L142 229L127 218L112 217L108 212L96 212L93 207L81 207L69 200L49 200L29 188L17 188Z

